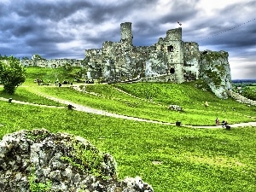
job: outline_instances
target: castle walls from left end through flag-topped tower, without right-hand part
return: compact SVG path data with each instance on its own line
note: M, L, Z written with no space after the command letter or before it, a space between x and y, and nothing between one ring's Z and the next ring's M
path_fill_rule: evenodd
M181 28L169 30L166 32L166 38L160 38L159 42L152 46L135 47L132 45L131 23L123 23L120 26L121 41L107 41L102 44L102 55L96 54L94 49L85 50L85 57L90 58L90 71L96 71L96 63L101 65L102 79L107 82L164 74L169 75L169 81L183 82Z

